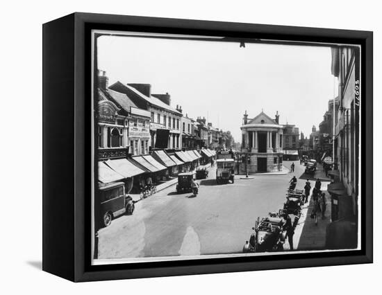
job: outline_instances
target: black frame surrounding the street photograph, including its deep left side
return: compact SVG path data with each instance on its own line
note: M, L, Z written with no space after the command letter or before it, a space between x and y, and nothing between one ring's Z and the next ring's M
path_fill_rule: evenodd
M361 46L361 249L251 256L90 264L91 30L226 36L238 40L322 42ZM373 261L373 34L189 19L74 13L43 25L42 269L75 282L211 274L260 269L349 265Z

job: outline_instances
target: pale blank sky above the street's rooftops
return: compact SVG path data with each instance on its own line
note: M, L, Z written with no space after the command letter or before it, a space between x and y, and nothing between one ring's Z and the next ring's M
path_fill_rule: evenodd
M249 118L279 111L281 124L309 136L337 95L329 47L102 36L98 67L109 84L148 83L151 93L168 92L172 107L205 116L235 141L245 110Z

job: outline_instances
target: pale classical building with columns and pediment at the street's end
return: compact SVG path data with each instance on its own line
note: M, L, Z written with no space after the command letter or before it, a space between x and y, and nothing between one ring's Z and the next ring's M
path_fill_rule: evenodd
M279 112L274 119L261 111L255 118L249 119L247 111L243 117L242 172L275 172L283 166L283 125L279 125ZM243 157L243 158L244 158ZM244 170L244 171L243 171Z

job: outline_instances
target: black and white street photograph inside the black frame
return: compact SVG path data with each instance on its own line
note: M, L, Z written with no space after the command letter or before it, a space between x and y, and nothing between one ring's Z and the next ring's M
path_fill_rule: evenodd
M92 32L92 264L360 249L360 47Z

